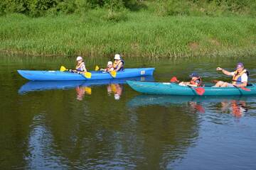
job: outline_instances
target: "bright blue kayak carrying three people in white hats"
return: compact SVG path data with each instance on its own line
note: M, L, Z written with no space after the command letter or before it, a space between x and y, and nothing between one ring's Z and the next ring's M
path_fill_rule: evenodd
M151 76L153 72L154 68L124 69L123 71L117 72L116 77L112 77L110 73L107 72L91 72L92 77L90 80ZM72 72L18 70L18 74L21 74L22 77L31 81L89 80L82 74Z

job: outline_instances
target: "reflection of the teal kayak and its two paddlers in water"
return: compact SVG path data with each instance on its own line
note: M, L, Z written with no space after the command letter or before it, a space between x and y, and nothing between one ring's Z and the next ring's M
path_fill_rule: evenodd
M247 101L255 101L253 96L150 96L139 95L127 103L129 108L141 106L186 106L191 112L206 113L206 111L220 111L231 113L235 118L245 115L249 108Z

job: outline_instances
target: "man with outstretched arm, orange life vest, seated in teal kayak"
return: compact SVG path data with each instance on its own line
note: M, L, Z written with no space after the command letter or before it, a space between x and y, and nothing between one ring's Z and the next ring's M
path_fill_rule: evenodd
M224 81L218 81L215 84L215 87L245 87L247 86L248 76L249 72L245 69L242 62L239 62L237 64L235 72L228 72L227 70L217 67L217 71L222 71L223 74L226 74L228 76L233 76L232 83L224 82Z

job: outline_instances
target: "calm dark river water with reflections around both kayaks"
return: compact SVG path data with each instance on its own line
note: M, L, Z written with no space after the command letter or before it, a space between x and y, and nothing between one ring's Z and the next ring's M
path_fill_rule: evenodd
M156 67L154 77L228 81L244 62L256 82L256 61L126 59ZM75 58L0 55L1 169L256 169L256 96L150 96L125 81L30 82L17 69L74 67ZM107 59L87 59L87 68Z

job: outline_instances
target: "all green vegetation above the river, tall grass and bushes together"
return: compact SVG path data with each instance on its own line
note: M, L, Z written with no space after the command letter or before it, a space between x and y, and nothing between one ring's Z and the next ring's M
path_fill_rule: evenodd
M151 58L256 55L256 2L251 0L52 0L54 5L46 4L41 11L33 11L39 8L29 7L30 0L19 11L18 2L5 2L0 5L1 52L91 57L118 52ZM69 10L60 4L70 4Z

